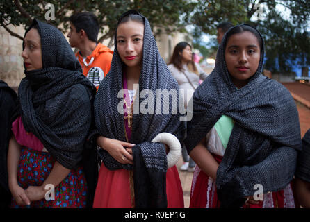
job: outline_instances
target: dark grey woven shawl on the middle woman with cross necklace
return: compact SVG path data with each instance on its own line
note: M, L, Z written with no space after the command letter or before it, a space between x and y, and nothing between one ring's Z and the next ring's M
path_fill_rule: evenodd
M136 13L130 11L128 13ZM149 22L145 17L142 71L139 79L139 92L143 89L179 89L177 81L172 78L163 58L161 58ZM100 135L111 139L126 141L124 115L117 112L117 93L122 89L122 60L117 52L115 36L115 51L111 69L101 82L95 97L95 123ZM178 94L179 95L179 94ZM138 96L134 105L144 101ZM155 100L154 100L155 101ZM168 104L165 104L168 105ZM160 143L151 143L152 139L161 132L172 133L178 139L183 139L184 126L179 121L179 113L172 114L171 101L169 114L133 114L131 132L134 165L123 165L117 162L108 152L100 149L99 155L108 169L133 169L135 204L136 207L167 207L165 194L165 173L167 171L167 157L165 147ZM154 105L155 113L156 105ZM163 103L161 105L163 110ZM136 111L134 111L136 112Z

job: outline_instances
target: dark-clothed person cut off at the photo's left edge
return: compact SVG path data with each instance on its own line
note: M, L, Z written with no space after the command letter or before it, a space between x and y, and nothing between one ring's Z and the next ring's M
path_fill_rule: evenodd
M5 82L0 80L0 209L10 205L8 189L8 142L11 135L12 114L17 103L17 94Z

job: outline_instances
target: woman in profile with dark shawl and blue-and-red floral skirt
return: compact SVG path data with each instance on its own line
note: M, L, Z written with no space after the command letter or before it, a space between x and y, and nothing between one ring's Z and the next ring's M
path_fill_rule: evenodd
M95 87L63 34L37 19L25 33L22 57L26 77L8 150L11 207L85 207L81 157Z

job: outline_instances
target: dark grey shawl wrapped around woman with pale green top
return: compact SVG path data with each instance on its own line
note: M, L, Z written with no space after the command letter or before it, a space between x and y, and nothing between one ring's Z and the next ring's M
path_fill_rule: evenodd
M254 185L263 185L266 193L283 189L293 179L301 148L300 123L290 92L261 74L263 49L254 76L236 89L225 63L227 33L215 69L193 94L185 144L190 153L223 114L234 119L216 187L222 207L240 207L243 197L254 194Z

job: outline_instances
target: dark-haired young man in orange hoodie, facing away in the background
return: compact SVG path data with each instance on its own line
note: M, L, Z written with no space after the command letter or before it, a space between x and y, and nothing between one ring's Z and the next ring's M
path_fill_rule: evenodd
M99 24L91 12L80 12L70 17L70 46L79 49L79 60L86 76L98 89L101 80L111 67L113 51L100 42L97 43Z

